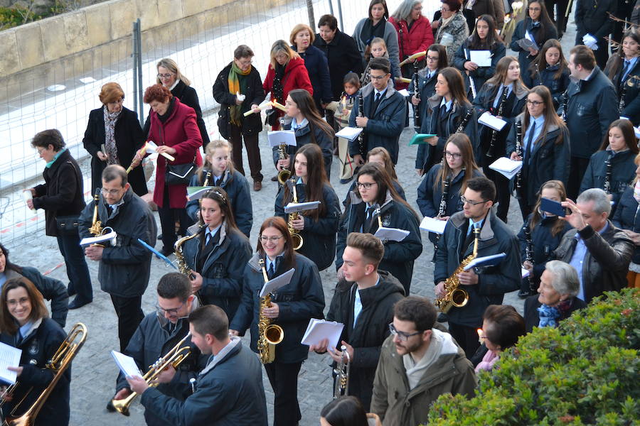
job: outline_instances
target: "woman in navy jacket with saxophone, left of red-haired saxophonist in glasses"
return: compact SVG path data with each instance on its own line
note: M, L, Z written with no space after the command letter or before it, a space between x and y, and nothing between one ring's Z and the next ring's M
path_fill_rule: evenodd
M231 202L220 187L202 196L200 217L188 229L197 236L183 243L192 290L204 305L216 305L233 318L242 295L242 271L251 257L249 239L235 225Z

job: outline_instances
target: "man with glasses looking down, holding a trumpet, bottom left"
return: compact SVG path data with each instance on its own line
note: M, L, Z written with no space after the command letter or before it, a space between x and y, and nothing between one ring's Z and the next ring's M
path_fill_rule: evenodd
M140 368L146 372L161 356L167 354L189 332L188 315L196 310L196 297L191 294L191 282L186 275L177 272L165 274L156 288L158 305L156 312L144 317L132 339L124 350ZM181 388L189 386L191 378L198 376L198 371L206 365L207 356L201 355L191 339L182 346L191 346L191 354L176 368L169 366L156 379L158 390L165 395L183 400ZM114 399L121 400L131 395L132 391L124 374L119 373ZM112 402L107 410L115 411ZM165 425L163 419L151 410L144 410L147 425Z

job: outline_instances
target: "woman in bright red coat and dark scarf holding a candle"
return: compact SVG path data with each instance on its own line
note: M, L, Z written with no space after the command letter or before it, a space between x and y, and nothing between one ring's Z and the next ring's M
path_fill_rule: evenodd
M265 93L270 93L272 101L281 105L284 105L293 89L305 89L311 96L314 94L304 60L284 40L277 40L271 46L271 62L262 88ZM272 130L280 128L279 118L282 116L284 111L272 109L272 113L267 116L267 124L272 126Z

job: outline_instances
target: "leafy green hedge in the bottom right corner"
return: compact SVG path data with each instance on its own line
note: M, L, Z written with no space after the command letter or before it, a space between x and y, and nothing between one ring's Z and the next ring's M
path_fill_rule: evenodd
M598 297L534 329L479 374L475 398L442 395L428 425L639 425L640 290Z

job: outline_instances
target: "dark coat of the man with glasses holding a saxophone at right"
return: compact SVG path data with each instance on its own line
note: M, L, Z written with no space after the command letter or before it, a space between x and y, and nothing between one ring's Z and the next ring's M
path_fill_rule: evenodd
M474 249L471 241L468 247L462 247L466 239L469 219L464 212L458 212L449 218L444 234L438 241L433 273L434 284L447 280L459 264ZM516 234L489 210L478 241L478 257L506 253L496 266L479 268L478 283L464 285L469 293L469 302L464 307L452 307L447 314L449 322L466 327L481 327L482 315L489 305L501 305L505 293L520 288L521 261Z

